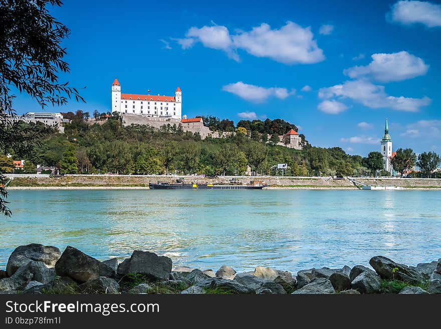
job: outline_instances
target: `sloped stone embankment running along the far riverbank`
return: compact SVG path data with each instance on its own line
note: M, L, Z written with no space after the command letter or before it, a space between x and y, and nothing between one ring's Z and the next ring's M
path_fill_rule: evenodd
M260 180L269 189L357 189L350 178L332 177L281 177L281 176L171 176L171 175L9 175L13 178L9 189L145 189L149 183L168 182L181 179L194 184L249 184ZM365 185L399 186L406 189L441 189L441 179L428 178L353 178Z

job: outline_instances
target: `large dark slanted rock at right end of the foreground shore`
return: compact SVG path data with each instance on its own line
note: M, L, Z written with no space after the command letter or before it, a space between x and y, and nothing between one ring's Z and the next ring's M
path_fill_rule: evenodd
M394 279L413 283L424 281L424 277L416 269L413 269L407 265L395 263L393 260L384 256L372 257L369 260L369 264L383 279Z

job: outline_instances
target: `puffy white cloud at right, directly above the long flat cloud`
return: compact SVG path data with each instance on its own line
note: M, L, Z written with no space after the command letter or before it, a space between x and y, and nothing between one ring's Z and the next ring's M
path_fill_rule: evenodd
M367 77L381 82L402 81L427 73L428 65L407 52L373 54L367 66L354 66L343 73L352 79Z

